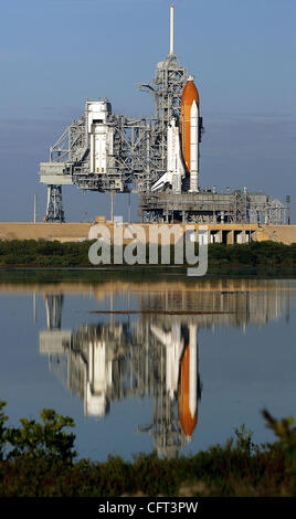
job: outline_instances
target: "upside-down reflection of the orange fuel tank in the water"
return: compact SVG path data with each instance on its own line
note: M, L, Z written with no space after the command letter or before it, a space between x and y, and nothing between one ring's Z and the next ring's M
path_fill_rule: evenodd
M197 389L197 388L195 388ZM186 436L191 436L197 425L197 409L193 416L190 411L190 347L186 347L181 362L180 396L179 396L180 423Z

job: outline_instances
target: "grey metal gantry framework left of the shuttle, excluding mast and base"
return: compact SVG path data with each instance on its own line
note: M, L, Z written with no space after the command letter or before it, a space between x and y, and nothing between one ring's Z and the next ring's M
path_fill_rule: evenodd
M61 184L73 183L91 191L150 192L152 183L166 172L167 128L172 117L180 117L181 93L188 77L177 57L158 63L152 86L140 84L155 99L155 117L128 118L109 113L107 126L113 129L113 152L107 157L105 174L91 172L91 135L87 133L87 110L73 121L50 149L50 162L41 163L41 181L51 182L52 173ZM98 102L108 103L106 98ZM53 168L56 165L56 169ZM56 181L57 179L55 179ZM47 202L55 205L51 197ZM46 214L51 213L47 209Z

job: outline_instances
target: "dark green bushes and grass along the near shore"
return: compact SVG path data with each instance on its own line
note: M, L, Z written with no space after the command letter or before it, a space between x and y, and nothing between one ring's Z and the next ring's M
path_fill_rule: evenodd
M133 463L75 462L74 422L52 410L42 423L22 419L7 426L0 402L0 496L296 496L296 427L293 419L276 421L263 411L277 439L254 445L244 426L224 446L214 445L190 457L158 459L139 454Z

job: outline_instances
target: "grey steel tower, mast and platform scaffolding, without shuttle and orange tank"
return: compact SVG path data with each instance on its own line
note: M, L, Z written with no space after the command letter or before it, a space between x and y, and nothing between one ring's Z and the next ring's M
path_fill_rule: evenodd
M154 183L167 172L168 125L172 118L180 120L181 94L188 78L187 68L173 52L171 9L170 53L157 64L152 83L139 84L141 92L152 96L154 117L128 118L113 114L106 98L87 99L84 115L51 147L49 162L41 162L40 180L49 187L45 221L64 221L62 186L74 184L97 192L138 192L140 214L147 222L285 223L287 205L267 194L247 193L246 188L218 194L214 189L201 189L189 194L187 177L180 194L172 193L166 186L160 192L151 191ZM92 116L89 106L95 104L105 106L104 120ZM201 137L202 118L200 124ZM98 153L104 156L105 166L94 169L92 163L98 160Z

